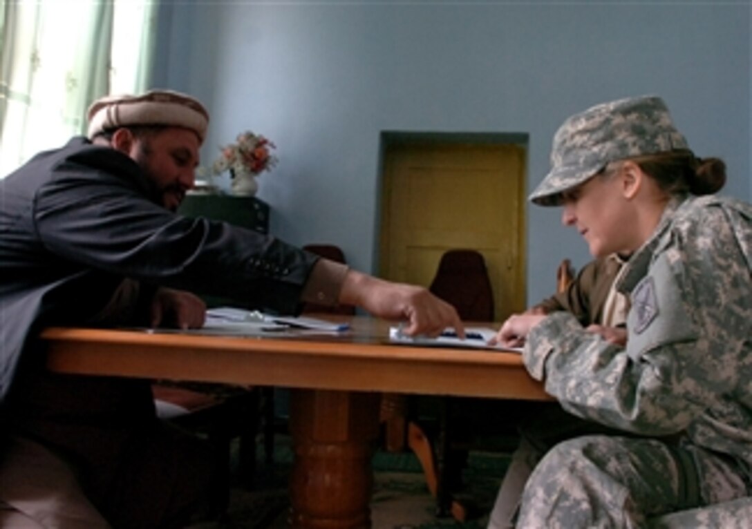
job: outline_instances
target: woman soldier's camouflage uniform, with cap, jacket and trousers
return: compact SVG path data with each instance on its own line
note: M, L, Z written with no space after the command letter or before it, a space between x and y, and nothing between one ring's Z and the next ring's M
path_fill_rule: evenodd
M593 107L559 129L554 168L531 199L559 204L561 192L612 161L675 149L686 150L686 142L660 99ZM529 373L544 379L569 413L632 437L596 435L556 445L526 485L518 527L643 527L648 521L715 527L728 512L684 509L750 494L750 228L750 204L675 197L617 284L632 301L626 348L588 334L569 313L532 328L523 353ZM667 435L675 440L661 438ZM729 505L750 510L745 500ZM656 521L682 510L673 525Z

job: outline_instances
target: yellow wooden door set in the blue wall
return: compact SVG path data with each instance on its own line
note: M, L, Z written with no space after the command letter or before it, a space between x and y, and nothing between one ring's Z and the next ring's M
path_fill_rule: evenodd
M525 152L514 144L387 147L379 274L429 286L447 249L484 255L503 321L525 309Z

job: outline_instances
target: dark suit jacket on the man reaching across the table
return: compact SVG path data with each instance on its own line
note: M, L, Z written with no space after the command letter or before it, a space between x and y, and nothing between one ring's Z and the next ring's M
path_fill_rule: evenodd
M315 255L158 200L132 159L83 138L0 180L0 398L27 337L88 321L125 278L298 310Z

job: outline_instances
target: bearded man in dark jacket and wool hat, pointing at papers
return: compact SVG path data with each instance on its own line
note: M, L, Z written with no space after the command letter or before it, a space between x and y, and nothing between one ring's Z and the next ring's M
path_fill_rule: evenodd
M462 331L426 289L177 215L208 126L194 98L103 98L88 118L88 138L0 180L0 526L182 527L226 486L205 447L156 419L147 382L44 370L47 325L197 328L196 292L281 313L349 304L410 334Z

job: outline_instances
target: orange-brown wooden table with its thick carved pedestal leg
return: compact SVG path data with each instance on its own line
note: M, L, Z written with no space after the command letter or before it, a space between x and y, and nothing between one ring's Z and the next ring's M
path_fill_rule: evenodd
M341 321L341 318L338 318ZM515 353L389 343L388 322L354 317L342 334L265 337L48 328L60 373L292 388L292 527L370 527L371 457L382 392L548 400Z

